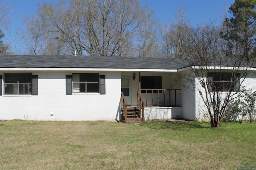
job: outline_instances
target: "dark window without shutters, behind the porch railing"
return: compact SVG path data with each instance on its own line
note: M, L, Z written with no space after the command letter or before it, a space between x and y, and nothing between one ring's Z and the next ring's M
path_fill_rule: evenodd
M162 77L161 76L141 76L141 89L142 93L146 91L143 89L162 89ZM147 90L147 92L152 92L151 90ZM157 93L157 90L153 90L153 93ZM159 90L162 92L162 90Z

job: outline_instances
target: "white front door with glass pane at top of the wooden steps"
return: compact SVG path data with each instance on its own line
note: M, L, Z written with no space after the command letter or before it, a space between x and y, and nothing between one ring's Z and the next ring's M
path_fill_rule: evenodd
M129 105L132 104L132 94L131 94L131 77L122 76L121 78L121 91Z

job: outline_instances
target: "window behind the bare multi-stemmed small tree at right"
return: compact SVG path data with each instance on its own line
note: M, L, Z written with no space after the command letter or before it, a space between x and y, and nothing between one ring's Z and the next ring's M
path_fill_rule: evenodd
M210 92L216 91L236 91L240 88L240 74L232 79L231 72L211 72L208 73L208 89Z

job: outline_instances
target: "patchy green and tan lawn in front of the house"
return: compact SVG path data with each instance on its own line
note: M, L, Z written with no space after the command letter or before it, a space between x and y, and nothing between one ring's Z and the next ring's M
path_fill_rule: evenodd
M237 169L256 123L0 121L0 169Z

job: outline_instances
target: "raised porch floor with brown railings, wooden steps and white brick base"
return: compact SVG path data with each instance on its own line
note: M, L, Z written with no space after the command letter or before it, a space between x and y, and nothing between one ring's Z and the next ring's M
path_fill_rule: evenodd
M122 122L130 124L152 119L182 118L181 90L142 89L137 92L137 106L128 105L121 92L121 117Z

